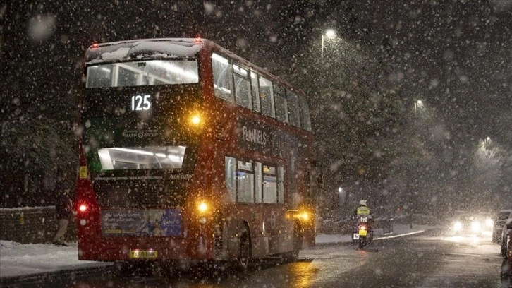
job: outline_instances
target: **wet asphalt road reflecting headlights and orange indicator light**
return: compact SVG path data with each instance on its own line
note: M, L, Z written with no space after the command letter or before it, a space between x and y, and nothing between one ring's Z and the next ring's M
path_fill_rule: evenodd
M173 275L121 277L112 269L53 275L8 287L501 287L502 258L490 239L439 232L301 251L294 263L267 260L248 272L195 268ZM158 274L158 273L154 273Z

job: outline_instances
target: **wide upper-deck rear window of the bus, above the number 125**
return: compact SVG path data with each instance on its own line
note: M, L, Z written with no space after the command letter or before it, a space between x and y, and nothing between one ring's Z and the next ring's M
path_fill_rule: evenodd
M171 85L199 82L195 60L152 60L87 67L86 88Z

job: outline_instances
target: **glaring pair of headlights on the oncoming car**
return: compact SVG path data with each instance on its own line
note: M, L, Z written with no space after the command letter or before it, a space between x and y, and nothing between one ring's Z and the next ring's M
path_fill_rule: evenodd
M467 213L462 212L456 215L453 220L450 231L452 234L477 235L482 236L492 233L494 221L490 215L484 213Z

